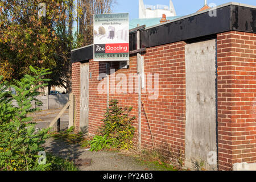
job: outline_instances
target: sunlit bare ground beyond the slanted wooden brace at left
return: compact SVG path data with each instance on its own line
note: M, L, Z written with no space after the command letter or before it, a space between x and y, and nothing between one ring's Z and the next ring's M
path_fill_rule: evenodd
M33 121L38 124L36 127L43 129L48 127L49 123L59 114L61 109L43 110L36 113L32 113L29 116L33 117ZM68 109L60 117L60 130L67 129L68 127Z

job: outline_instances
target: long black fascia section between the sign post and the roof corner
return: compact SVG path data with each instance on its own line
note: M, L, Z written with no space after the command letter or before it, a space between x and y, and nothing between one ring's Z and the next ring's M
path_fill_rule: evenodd
M217 16L209 16L209 11L207 11L202 14L141 31L141 46L160 46L229 31L231 29L230 6L221 7L216 11Z

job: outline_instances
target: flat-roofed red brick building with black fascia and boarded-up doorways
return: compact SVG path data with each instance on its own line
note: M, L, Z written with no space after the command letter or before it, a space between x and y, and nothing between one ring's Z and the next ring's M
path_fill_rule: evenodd
M137 53L143 56L141 90ZM207 169L253 169L256 7L227 3L130 30L126 69L117 61L93 61L93 46L75 49L72 92L76 131L96 134L108 101L117 99L133 106L138 146L154 145L191 168L203 160Z

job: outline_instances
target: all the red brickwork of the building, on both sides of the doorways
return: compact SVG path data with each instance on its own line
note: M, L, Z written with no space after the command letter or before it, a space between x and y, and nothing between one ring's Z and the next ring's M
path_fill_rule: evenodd
M185 43L177 42L147 48L144 55L144 72L159 75L159 97L149 100L142 90L142 147L152 148L150 122L154 143L166 155L181 158L185 151ZM218 167L231 170L237 162L256 162L256 35L243 32L225 32L217 35L217 110L218 110ZM137 58L130 57L130 68L119 69L112 63L115 76L128 77L137 73ZM92 78L89 78L89 133L96 134L106 109L106 93L98 93L99 73L106 71L105 63L90 60ZM80 118L80 63L72 65L72 90L75 94L76 130ZM154 76L152 77L154 80ZM122 79L122 78L120 78ZM106 78L103 81L106 81ZM127 85L130 84L128 81ZM115 81L118 84L120 81ZM154 81L146 82L154 85ZM113 87L110 81L110 88ZM154 87L154 86L153 86ZM138 129L138 90L133 93L111 93L122 106L133 106ZM129 89L127 88L127 92ZM138 133L135 134L135 142ZM175 160L173 160L175 162Z

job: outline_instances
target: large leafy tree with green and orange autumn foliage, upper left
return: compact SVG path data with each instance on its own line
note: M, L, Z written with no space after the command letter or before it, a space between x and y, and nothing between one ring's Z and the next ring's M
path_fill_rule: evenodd
M73 1L46 0L46 17L38 17L39 0L3 0L0 4L0 73L5 80L29 73L29 65L51 68L51 85L68 85L72 49ZM69 26L67 26L69 24ZM68 28L67 28L68 27ZM65 45L65 46L62 46ZM10 72L11 71L11 72Z

